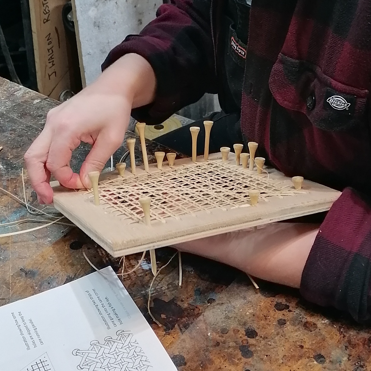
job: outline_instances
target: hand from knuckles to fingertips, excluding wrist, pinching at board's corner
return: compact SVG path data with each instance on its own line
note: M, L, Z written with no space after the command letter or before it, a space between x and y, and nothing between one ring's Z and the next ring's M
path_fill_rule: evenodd
M68 188L89 188L88 173L101 171L121 145L128 126L131 102L118 95L85 89L53 108L45 128L26 152L24 159L40 203L52 203L50 173ZM80 142L93 145L80 175L69 167L72 151Z

